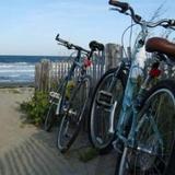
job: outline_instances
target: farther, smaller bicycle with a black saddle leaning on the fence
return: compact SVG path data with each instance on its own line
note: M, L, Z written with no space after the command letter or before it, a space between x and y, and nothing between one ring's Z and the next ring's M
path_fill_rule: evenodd
M85 107L92 90L91 77L86 74L86 69L92 63L91 57L94 51L102 51L104 46L93 40L90 43L91 50L89 51L61 39L59 34L56 36L56 40L59 45L77 51L68 74L58 84L58 90L50 92L50 106L45 119L45 130L50 131L56 118L61 118L57 133L57 147L63 153L75 140L84 118ZM82 55L85 55L83 61ZM77 75L75 72L78 72Z

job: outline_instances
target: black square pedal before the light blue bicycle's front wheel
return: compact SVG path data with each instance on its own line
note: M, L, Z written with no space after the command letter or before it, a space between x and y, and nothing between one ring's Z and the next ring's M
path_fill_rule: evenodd
M100 91L97 94L96 102L98 105L102 105L104 107L112 107L113 94L106 91Z

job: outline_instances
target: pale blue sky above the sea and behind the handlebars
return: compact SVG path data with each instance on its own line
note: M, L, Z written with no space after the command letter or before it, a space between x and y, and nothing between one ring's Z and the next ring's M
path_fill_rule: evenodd
M174 0L125 0L150 20L164 2L161 18L175 19ZM67 55L57 45L59 33L73 44L89 48L93 39L120 43L130 18L109 11L108 0L1 0L0 55Z

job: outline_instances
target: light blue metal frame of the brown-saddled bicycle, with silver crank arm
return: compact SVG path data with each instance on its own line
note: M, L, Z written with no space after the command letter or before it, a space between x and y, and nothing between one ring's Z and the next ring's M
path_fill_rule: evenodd
M137 82L133 82L133 80L132 80L132 75L133 75L132 71L135 68L141 69L138 63L139 61L138 61L137 54L144 46L144 40L145 40L147 36L148 36L148 27L147 27L147 25L141 25L141 32L139 33L139 35L136 39L136 44L133 46L133 51L131 55L131 65L130 65L130 69L129 69L129 75L128 75L127 85L125 89L125 95L124 95L124 100L122 100L122 107L121 107L121 110L119 114L119 120L118 120L117 126L114 126L114 124L113 124L115 105L117 102L114 104L113 110L110 113L109 132L116 131L116 137L119 138L119 140L121 140L125 143L125 145L131 147L131 148L136 147L137 130L139 130L139 127L141 127L141 125L143 124L143 120L145 119L145 118L143 118L142 122L140 122L138 125L137 118L138 118L139 110L136 108L136 105L135 105L136 102L133 100L133 98L137 98L137 96L133 96ZM124 67L125 67L125 65L121 63L118 68L118 71L122 70ZM145 79L143 83L144 83L144 85L148 85L149 82L150 81L148 81L148 79ZM141 94L141 93L142 93L142 91L140 90L138 94ZM132 118L130 118L130 117L132 117ZM131 119L130 131L129 131L128 136L125 136L125 127L126 127L128 120L130 120L130 119ZM156 135L160 136L158 133L158 129L156 129L154 121L151 120L151 122L153 125L153 128L154 128ZM114 127L116 127L116 129ZM158 137L158 138L160 138L160 137ZM160 140L161 140L161 138L160 138Z

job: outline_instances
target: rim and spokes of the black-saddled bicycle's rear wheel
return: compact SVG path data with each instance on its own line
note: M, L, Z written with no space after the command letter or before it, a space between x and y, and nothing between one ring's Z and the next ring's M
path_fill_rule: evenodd
M78 85L78 89L74 91L74 94L71 96L71 101L69 102L70 103L69 107L67 110L65 110L61 125L58 130L57 147L61 152L66 152L69 149L69 147L72 144L72 142L74 141L80 130L80 124L82 121L83 113L85 110L85 106L90 95L90 84L91 84L89 78L85 78L84 82L86 82L86 85L85 85L86 88L84 89L83 84L79 84L80 86ZM79 93L81 93L81 90L84 91L85 96L82 95L83 100L79 101L80 100ZM74 104L77 104L77 107L78 105L80 105L79 108L77 108ZM69 114L70 112L77 113L77 115L70 116Z

